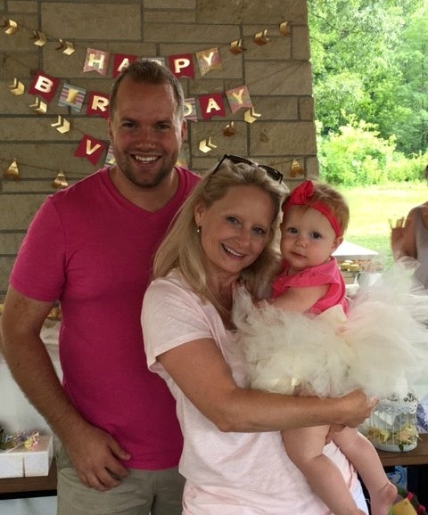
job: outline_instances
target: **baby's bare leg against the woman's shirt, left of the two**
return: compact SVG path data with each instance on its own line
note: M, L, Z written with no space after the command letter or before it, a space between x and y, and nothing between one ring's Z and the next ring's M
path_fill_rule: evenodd
M282 431L285 451L309 486L334 515L364 515L341 470L323 454L329 426Z

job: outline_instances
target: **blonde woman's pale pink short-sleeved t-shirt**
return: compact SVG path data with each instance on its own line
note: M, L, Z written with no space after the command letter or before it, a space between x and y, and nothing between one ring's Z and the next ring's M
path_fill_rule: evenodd
M214 339L236 383L247 386L242 349L226 331L216 309L202 302L172 272L152 282L142 311L147 364L167 381L177 400L185 445L180 472L186 478L184 513L210 515L327 515L330 511L309 488L285 454L279 431L221 432L189 401L157 356L195 339ZM192 373L189 365L188 373ZM355 471L333 443L325 454L342 471L346 484L359 487Z

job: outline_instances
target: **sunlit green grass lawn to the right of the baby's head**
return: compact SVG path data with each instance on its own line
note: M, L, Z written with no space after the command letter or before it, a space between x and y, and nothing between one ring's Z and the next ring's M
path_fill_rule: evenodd
M345 239L379 252L379 262L388 268L392 263L389 219L406 217L411 208L428 200L427 185L392 183L338 189L350 205Z

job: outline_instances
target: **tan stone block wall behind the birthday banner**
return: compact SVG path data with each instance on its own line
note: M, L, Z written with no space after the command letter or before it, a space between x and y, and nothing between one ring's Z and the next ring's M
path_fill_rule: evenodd
M306 1L0 0L0 12L0 302L29 221L55 191L54 179L62 172L72 184L106 162L107 150L95 165L74 154L87 135L108 148L106 120L86 114L86 98L109 94L116 54L164 57L168 66L170 56L191 54L195 76L180 78L198 113L188 123L182 155L189 168L203 173L224 153L235 153L276 166L291 184L317 174ZM285 21L288 34L279 29ZM45 45L36 45L42 35ZM242 53L231 52L237 40ZM105 76L84 71L88 48L110 54ZM217 48L222 69L202 75L196 54L210 48ZM40 97L29 89L39 73L59 86L46 112L37 114ZM13 94L18 81L23 94ZM80 111L59 105L64 84L86 91ZM243 85L253 123L244 119L246 107L233 113L226 96ZM203 119L198 102L207 94L221 95L224 116ZM70 121L69 132L53 127L59 115ZM231 122L235 134L225 135ZM200 142L207 138L216 148L203 152ZM301 168L297 175L293 160Z

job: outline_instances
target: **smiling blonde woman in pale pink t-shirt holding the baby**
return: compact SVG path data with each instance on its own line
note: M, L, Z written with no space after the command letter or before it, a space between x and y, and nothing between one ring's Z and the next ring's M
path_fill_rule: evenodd
M193 190L155 257L144 342L150 369L177 399L186 515L326 515L279 431L356 427L373 407L359 391L319 399L248 388L230 319L233 290L245 281L260 297L271 279L267 270L276 272L281 181L273 168L225 156ZM350 463L332 443L325 454L366 510Z

